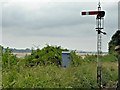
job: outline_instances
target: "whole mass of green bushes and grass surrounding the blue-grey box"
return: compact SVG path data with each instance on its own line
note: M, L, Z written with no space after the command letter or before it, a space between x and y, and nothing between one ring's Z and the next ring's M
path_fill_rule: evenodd
M3 88L98 88L96 55L81 58L72 51L71 67L63 68L58 67L63 50L67 49L47 45L42 49L32 50L31 55L19 59L9 48L4 49L4 52L2 50ZM115 56L101 56L101 60L103 86L116 87L118 70Z

